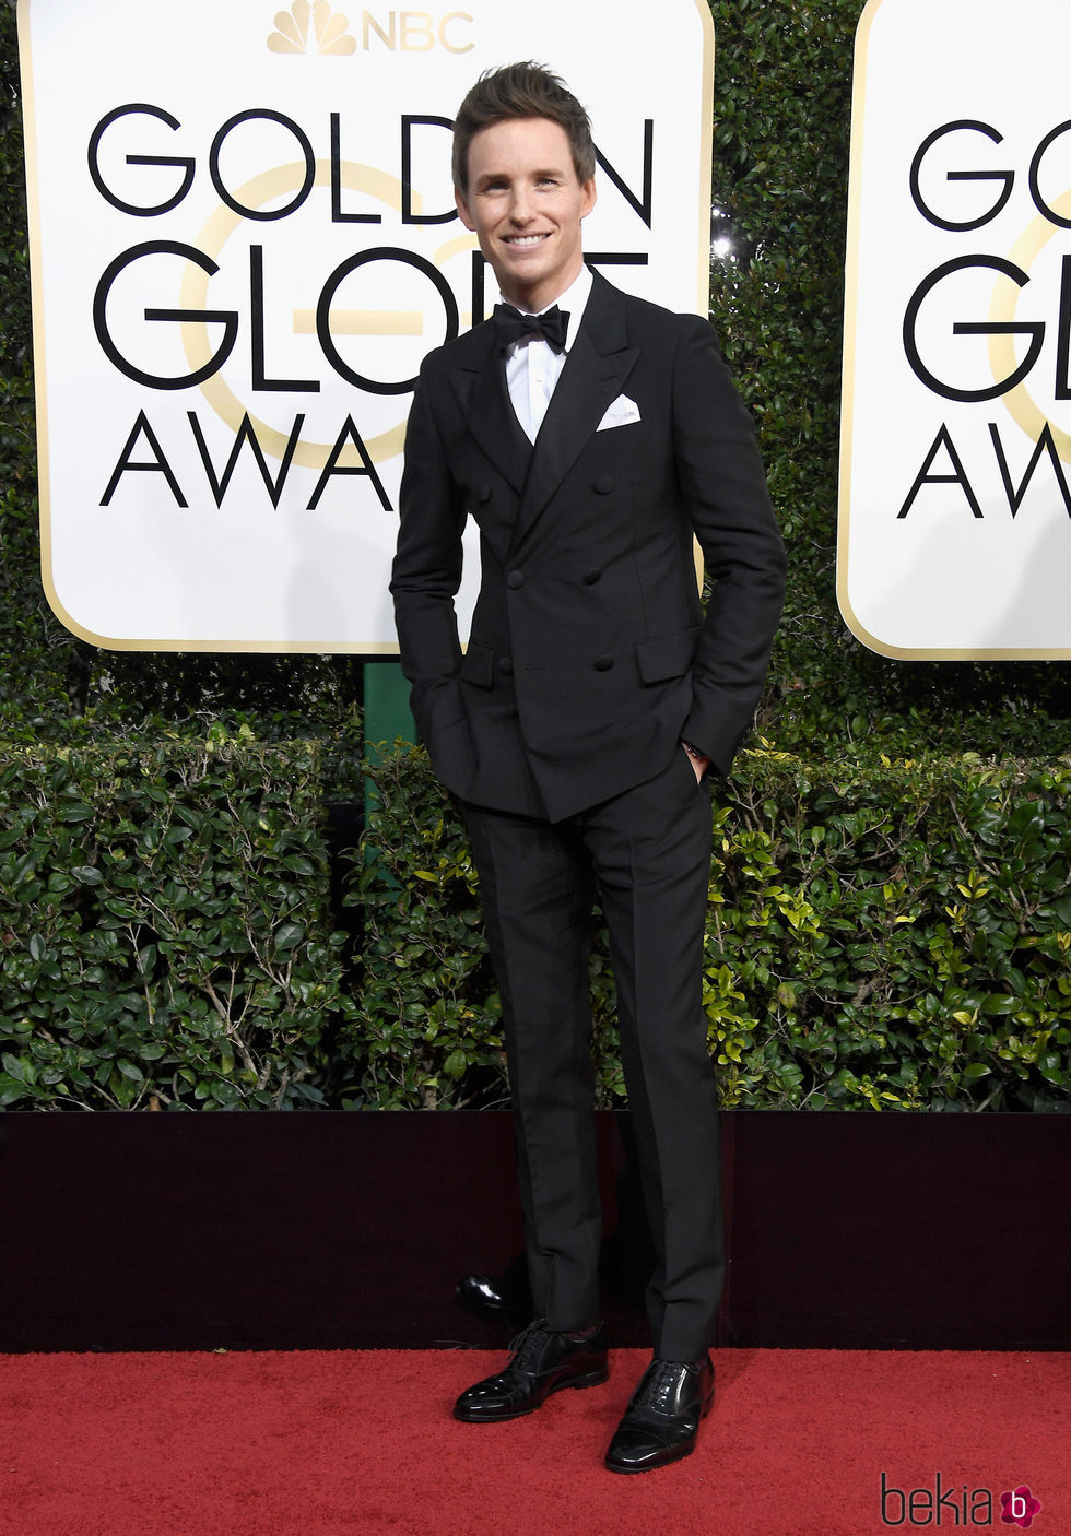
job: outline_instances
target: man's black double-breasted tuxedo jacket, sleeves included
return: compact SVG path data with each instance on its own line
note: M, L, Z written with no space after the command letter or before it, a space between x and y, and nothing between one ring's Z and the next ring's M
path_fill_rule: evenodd
M598 432L619 395L641 419ZM482 584L461 656L466 516ZM715 594L704 617L691 535ZM685 740L728 773L781 613L784 548L711 327L595 275L535 449L490 324L413 401L392 591L412 708L455 794L559 820Z

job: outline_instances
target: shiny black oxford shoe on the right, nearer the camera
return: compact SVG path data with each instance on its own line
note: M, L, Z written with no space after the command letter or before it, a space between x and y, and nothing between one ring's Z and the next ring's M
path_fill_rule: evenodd
M607 1467L610 1471L652 1471L688 1456L696 1445L699 1419L713 1404L710 1355L687 1364L652 1361L610 1441Z

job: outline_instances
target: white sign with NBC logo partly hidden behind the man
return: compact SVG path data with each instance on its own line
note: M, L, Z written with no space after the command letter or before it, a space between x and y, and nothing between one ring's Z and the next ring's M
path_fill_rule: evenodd
M278 3L20 0L43 581L100 645L395 650L415 375L495 296L449 169L482 69L565 78L595 264L707 309L705 0Z

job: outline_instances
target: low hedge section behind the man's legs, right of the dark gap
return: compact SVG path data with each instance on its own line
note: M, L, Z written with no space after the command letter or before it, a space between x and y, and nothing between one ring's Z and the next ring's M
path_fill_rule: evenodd
M372 770L353 900L366 1101L506 1094L476 879L423 751ZM715 809L704 1005L722 1101L1056 1109L1071 1086L1071 760L808 763L747 753ZM613 985L592 958L602 1103Z

